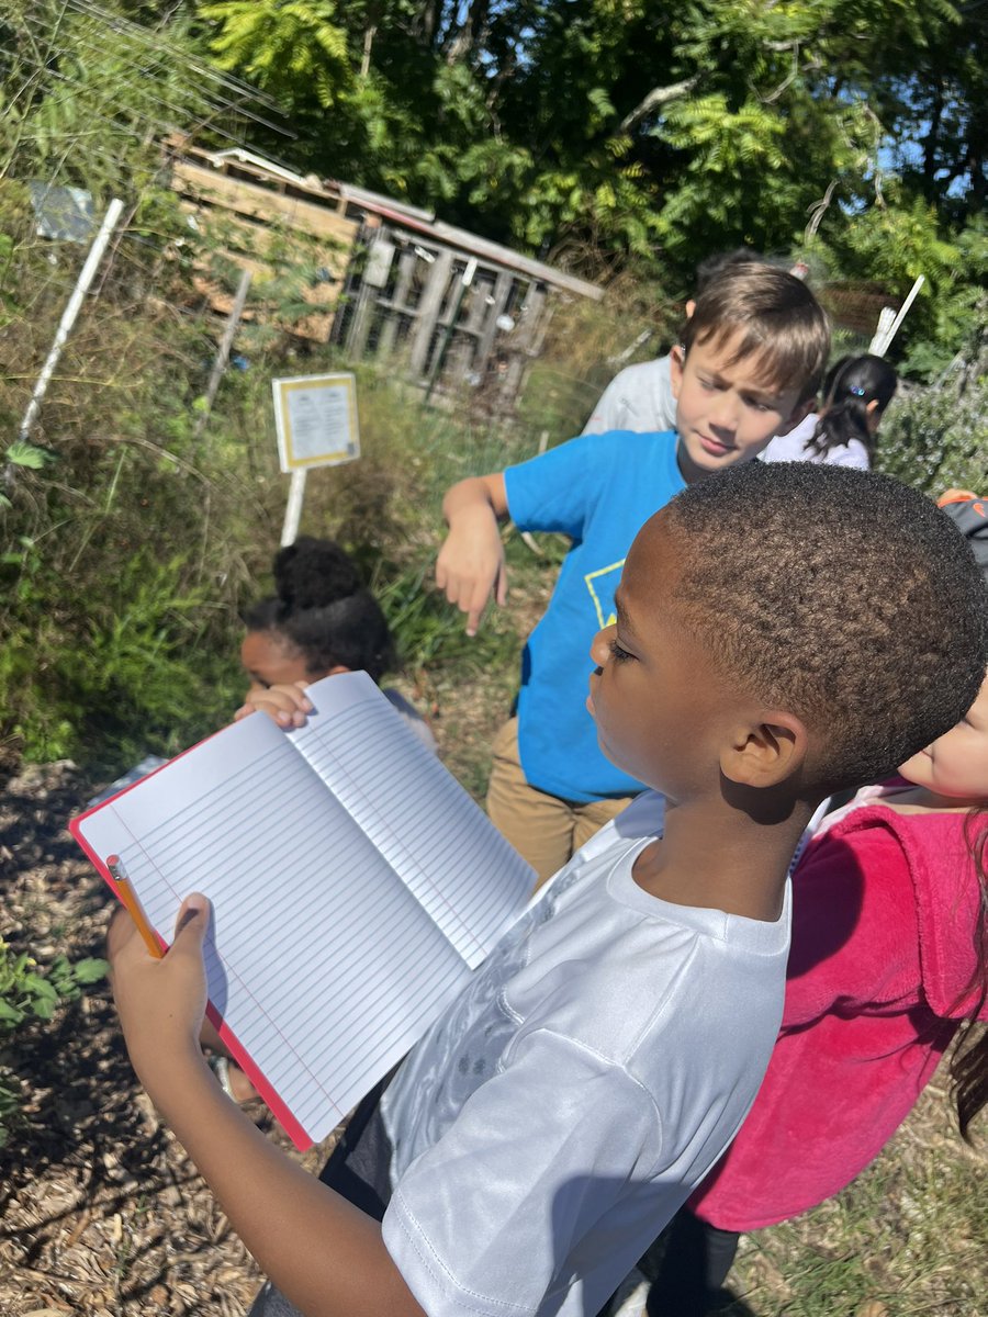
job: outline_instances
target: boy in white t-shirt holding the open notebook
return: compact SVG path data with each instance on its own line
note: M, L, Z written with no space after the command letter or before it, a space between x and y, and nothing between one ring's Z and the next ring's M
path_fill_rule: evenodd
M206 898L163 960L119 917L134 1068L270 1276L253 1313L595 1313L755 1096L800 834L963 714L981 611L960 536L894 481L750 464L677 495L588 662L601 745L664 818L648 793L573 857L364 1104L325 1183L203 1062ZM304 710L299 687L271 698Z

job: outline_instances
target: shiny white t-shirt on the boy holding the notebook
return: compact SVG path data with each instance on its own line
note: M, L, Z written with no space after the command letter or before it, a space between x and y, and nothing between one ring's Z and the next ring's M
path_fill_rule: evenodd
M595 1313L731 1142L782 1013L775 923L632 877L644 793L552 882L391 1083L385 1245L429 1317Z

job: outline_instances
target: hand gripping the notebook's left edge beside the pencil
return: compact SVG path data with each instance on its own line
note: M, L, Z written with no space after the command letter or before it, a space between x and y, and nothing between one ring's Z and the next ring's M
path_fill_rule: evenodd
M175 939L162 960L149 955L130 915L120 909L107 935L111 984L130 1060L150 1087L155 1067L177 1055L199 1052L206 1017L203 938L209 922L204 896L187 897L175 922Z

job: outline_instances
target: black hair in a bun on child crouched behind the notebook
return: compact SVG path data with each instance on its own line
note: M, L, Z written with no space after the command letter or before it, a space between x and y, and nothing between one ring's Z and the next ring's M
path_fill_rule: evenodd
M331 668L374 681L395 666L387 622L352 558L333 540L303 535L274 558L277 595L244 614L248 631L266 631L306 661L311 676Z

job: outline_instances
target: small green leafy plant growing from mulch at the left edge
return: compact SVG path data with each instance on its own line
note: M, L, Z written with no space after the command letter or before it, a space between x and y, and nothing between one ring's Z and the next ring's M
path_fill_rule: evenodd
M107 968L105 960L95 957L71 964L66 956L55 956L42 972L33 956L0 939L0 1040L5 1044L20 1030L50 1021L59 1005L79 998ZM4 1047L0 1058L5 1054ZM22 1118L21 1092L17 1075L0 1059L0 1148L11 1126Z

